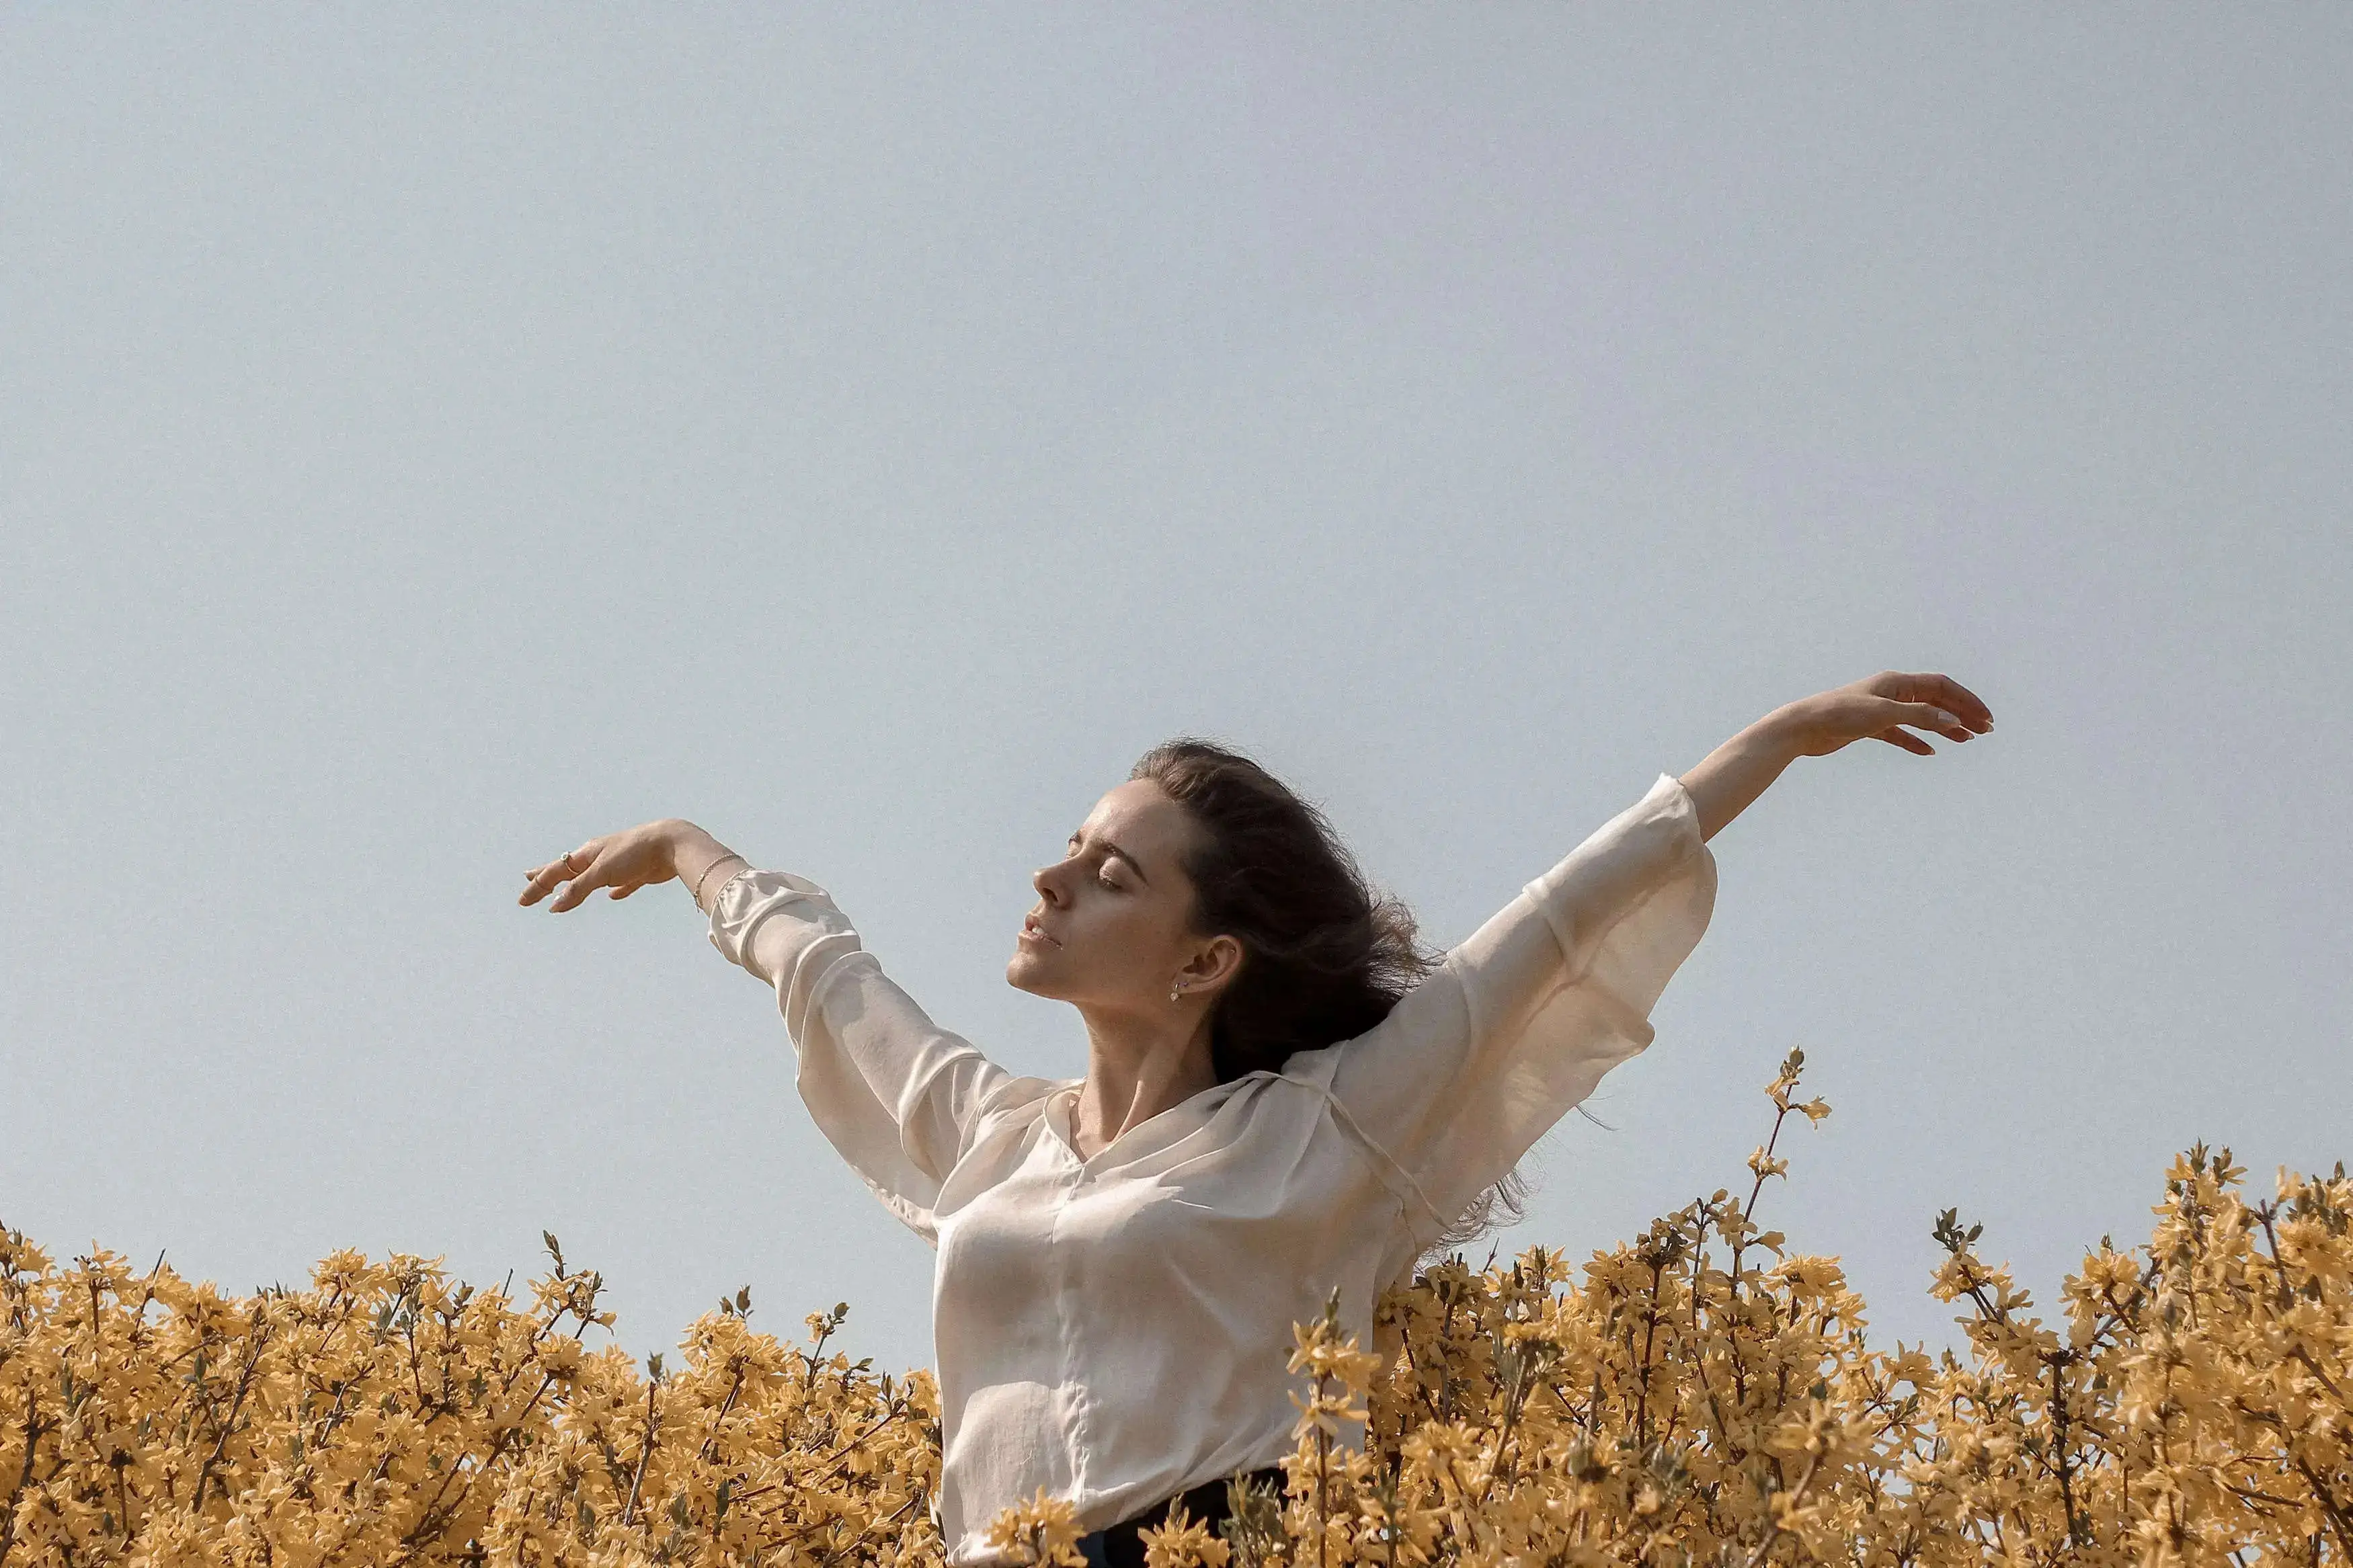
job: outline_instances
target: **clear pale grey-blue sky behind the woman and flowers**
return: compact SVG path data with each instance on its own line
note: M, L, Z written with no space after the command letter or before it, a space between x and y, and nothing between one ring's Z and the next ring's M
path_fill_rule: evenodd
M2353 9L12 7L0 1222L228 1288L722 1291L929 1359L929 1251L675 884L934 1016L1151 743L1438 943L1781 701L1800 764L1506 1246L1746 1190L1948 1342L2167 1159L2353 1154Z

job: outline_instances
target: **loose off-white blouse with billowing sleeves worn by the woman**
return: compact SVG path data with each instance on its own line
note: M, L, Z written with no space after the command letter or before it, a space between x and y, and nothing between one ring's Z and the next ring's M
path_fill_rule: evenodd
M939 1251L932 1331L958 1568L1040 1486L1104 1528L1292 1448L1292 1324L1374 1298L1600 1077L1715 905L1692 797L1649 795L1527 884L1365 1034L1071 1147L1080 1079L932 1023L788 872L720 889L711 943L776 990L800 1098Z

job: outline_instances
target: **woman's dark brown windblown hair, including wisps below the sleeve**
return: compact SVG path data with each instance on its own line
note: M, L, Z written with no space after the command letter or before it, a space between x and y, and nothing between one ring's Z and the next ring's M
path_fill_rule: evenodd
M1200 827L1184 865L1193 929L1242 945L1242 969L1209 1016L1221 1084L1355 1039L1435 969L1412 912L1365 882L1322 811L1249 757L1184 736L1144 752L1127 776L1160 785ZM1518 1220L1522 1197L1520 1175L1504 1178L1440 1246Z

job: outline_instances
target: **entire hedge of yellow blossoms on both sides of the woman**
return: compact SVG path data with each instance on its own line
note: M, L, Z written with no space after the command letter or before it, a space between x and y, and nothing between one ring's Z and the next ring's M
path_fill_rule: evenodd
M1828 1114L1800 1070L1746 1199L1577 1274L1431 1267L1381 1352L1299 1326L1287 1488L1172 1519L1151 1563L2353 1563L2344 1166L2247 1201L2191 1150L2151 1241L2101 1239L2049 1321L1946 1213L1969 1352L1873 1349L1838 1262L1751 1220L1788 1117ZM828 1354L845 1307L784 1345L736 1295L640 1371L548 1251L527 1300L353 1253L231 1298L0 1232L0 1568L941 1563L936 1389ZM1078 1563L1075 1535L1049 1497L993 1526L1009 1561Z

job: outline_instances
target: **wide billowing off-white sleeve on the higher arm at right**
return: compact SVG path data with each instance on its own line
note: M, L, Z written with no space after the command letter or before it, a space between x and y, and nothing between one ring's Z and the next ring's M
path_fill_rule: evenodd
M1332 1098L1419 1187L1424 1246L1649 1044L1649 1009L1713 907L1715 856L1661 773L1332 1048Z

